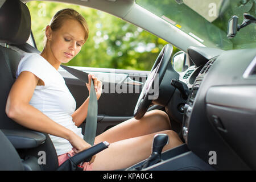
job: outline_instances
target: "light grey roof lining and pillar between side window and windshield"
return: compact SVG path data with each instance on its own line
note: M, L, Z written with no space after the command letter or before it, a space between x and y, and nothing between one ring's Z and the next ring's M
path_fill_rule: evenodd
M29 1L22 0L22 2L26 3ZM55 2L72 3L112 14L126 22L143 28L143 30L151 32L183 51L187 51L189 46L204 47L203 44L185 34L179 28L138 6L134 0L55 0Z

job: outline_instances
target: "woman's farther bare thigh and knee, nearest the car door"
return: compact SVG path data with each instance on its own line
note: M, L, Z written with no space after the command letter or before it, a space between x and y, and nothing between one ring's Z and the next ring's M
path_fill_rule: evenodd
M171 124L168 115L162 110L151 110L139 120L131 118L98 135L95 138L95 143L103 141L113 143L170 129Z

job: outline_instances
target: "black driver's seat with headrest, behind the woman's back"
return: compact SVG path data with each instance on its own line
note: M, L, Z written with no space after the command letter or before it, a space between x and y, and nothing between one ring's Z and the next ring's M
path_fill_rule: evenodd
M2 3L3 2L3 3ZM1 4L2 3L2 4ZM6 101L11 86L15 81L15 72L21 59L22 51L14 49L26 44L31 32L31 16L24 3L19 0L6 0L0 3L0 129L27 130L23 126L7 117L5 113ZM4 131L4 130L2 130ZM48 134L44 144L36 148L19 149L19 155L26 158L27 155L39 157L39 151L46 152L46 164L42 164L44 170L55 170L58 160L55 148ZM1 147L2 148L2 147ZM2 156L2 155L1 155ZM2 159L1 159L2 160Z

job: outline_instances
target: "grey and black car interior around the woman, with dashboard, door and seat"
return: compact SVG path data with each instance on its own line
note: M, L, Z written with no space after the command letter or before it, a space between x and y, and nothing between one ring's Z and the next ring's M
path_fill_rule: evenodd
M70 166L89 161L108 146L104 142L97 144L59 167L48 134L19 125L7 117L5 112L6 100L15 81L15 72L22 54L40 53L35 45L27 42L32 39L32 32L31 15L26 2L0 2L0 170L72 170L74 168ZM191 36L177 31L176 27L169 26L163 19L142 9L133 0L59 2L76 3L105 11L160 38L166 37L166 41L170 42L159 53L151 71L73 67L94 73L102 80L105 88L110 88L111 94L104 93L98 100L96 135L132 117L141 118L146 111L160 109L166 111L173 130L184 142L162 152L158 163L145 167L143 164L148 160L145 159L120 170L256 169L256 48L224 51L205 47ZM173 55L171 43L183 52ZM183 71L178 73L171 60L181 54L185 62ZM59 72L79 107L89 95L84 82L63 68L59 68ZM148 97L152 94L144 85L152 84L147 78L155 72L159 74L159 94L156 99L150 100ZM104 80L106 77L110 79ZM135 93L116 93L114 89L117 85L131 88ZM82 133L85 123L81 126ZM42 163L39 163L40 151L44 151L47 156Z

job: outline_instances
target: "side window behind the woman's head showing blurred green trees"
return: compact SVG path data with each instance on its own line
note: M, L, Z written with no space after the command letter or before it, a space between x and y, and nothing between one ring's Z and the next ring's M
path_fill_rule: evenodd
M84 16L89 26L89 38L67 65L150 71L159 52L167 44L155 35L99 10L38 1L28 2L27 6L39 51L43 50L45 27L58 10L72 8Z

